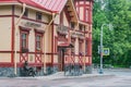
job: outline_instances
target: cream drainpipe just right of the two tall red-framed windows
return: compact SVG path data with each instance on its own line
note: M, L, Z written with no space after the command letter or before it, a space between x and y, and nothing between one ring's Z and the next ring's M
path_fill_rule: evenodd
M46 74L46 69L47 69L47 66L46 66L46 50L47 50L47 44L46 44L46 30L47 30L47 28L51 25L51 23L53 22L53 20L56 18L55 16L56 16L56 14L57 13L52 13L52 18L51 18L51 21L49 22L49 24L45 27L45 54L44 54L44 74Z

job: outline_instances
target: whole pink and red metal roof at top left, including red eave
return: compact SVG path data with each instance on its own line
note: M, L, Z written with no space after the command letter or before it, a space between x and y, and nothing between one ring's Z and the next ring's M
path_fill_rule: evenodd
M25 3L48 12L61 12L68 0L0 0L0 3Z

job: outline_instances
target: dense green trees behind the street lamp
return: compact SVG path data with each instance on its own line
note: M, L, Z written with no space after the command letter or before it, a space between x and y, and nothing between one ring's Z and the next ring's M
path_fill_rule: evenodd
M111 23L112 30L104 26L104 47L110 48L110 55L104 57L104 63L117 66L131 65L131 1L104 0L106 7L102 10L102 2L94 2L93 9L93 62L99 63L97 53L103 24Z

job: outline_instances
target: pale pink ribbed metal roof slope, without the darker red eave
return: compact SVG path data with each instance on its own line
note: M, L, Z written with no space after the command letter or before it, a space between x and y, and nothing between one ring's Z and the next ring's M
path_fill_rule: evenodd
M57 11L60 13L68 0L32 0L32 1L40 4L45 9L48 9L52 12Z

